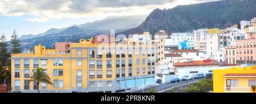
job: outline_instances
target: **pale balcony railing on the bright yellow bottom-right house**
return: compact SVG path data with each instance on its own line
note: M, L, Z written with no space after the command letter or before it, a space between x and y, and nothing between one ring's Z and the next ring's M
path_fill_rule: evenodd
M242 93L250 93L250 87L224 87L224 92L242 92Z

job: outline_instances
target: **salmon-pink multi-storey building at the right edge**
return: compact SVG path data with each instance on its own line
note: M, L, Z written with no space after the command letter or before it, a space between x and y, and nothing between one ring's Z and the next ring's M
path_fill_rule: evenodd
M255 38L236 41L237 64L256 63L256 40Z

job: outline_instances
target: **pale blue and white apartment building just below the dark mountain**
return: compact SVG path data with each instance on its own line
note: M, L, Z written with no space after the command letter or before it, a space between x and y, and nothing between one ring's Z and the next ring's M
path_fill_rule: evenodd
M193 32L185 32L185 33L172 33L172 35L170 36L170 38L167 38L166 42L164 43L164 45L168 46L168 45L179 45L179 42L183 42L183 41L189 41L189 42L193 42Z

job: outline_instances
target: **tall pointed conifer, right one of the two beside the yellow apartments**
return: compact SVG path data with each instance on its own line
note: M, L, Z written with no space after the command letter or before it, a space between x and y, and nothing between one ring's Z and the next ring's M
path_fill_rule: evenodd
M20 41L18 38L18 34L16 33L15 29L13 34L11 35L11 47L12 47L11 49L12 54L18 54L22 52L20 48Z

